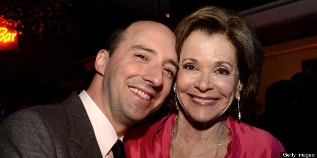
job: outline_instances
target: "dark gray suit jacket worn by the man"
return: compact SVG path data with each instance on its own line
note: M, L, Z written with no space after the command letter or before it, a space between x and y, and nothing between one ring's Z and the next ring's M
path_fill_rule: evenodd
M8 116L0 124L0 157L102 157L79 93Z

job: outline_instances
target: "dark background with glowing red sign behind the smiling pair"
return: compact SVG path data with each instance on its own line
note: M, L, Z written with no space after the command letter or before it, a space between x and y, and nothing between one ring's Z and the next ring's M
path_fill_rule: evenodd
M290 80L297 72L316 75L315 0L1 1L0 28L8 30L0 29L0 103L6 106L7 114L58 103L73 90L88 86L94 55L116 26L157 20L174 30L185 15L207 5L239 12L256 28L266 52L259 115L265 109L265 91L271 84ZM15 41L10 41L9 35Z

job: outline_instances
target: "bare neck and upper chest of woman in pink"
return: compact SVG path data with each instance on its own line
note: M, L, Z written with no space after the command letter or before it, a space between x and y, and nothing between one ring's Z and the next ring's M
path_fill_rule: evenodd
M197 129L180 112L172 131L171 157L224 156L230 142L226 120L215 121L209 128ZM217 144L221 144L220 146ZM177 155L177 156L176 156Z

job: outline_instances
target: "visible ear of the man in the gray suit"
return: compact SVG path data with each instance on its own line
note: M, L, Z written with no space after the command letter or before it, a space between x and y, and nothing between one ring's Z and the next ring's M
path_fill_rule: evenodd
M95 69L99 74L104 75L104 70L107 62L109 61L109 52L105 49L101 49L95 61Z

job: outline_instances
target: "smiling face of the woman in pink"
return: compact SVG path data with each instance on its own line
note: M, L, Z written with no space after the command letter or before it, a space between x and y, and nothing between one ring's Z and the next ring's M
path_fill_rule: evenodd
M223 35L194 31L184 41L177 73L177 96L196 122L223 115L242 90L235 48Z

